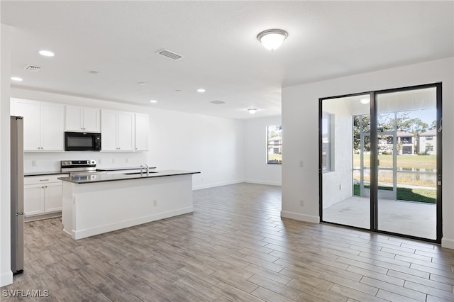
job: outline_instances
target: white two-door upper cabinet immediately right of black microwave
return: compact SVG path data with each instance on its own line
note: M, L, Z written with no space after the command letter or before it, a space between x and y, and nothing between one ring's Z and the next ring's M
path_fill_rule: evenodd
M101 150L134 151L134 113L101 110Z

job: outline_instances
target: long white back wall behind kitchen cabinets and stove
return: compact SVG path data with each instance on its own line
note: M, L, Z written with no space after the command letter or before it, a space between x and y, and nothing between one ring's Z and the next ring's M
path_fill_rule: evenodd
M60 160L87 158L101 160L98 167L148 164L157 170L200 171L194 174L194 189L243 181L243 121L28 89L12 88L11 97L147 113L150 118L148 152L26 152L25 172L58 171Z

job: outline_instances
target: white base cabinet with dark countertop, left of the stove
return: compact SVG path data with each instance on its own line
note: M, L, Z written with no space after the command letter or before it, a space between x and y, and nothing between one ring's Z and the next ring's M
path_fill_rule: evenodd
M23 210L26 221L60 216L62 181L57 177L67 176L68 174L55 174L24 178Z

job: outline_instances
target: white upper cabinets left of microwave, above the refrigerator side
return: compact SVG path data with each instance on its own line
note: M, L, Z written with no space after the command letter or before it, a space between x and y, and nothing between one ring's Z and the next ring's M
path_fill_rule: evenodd
M64 150L65 106L25 99L13 100L13 114L23 116L24 151Z

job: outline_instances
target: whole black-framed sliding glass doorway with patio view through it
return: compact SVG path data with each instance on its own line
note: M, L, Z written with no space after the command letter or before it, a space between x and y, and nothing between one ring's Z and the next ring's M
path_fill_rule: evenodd
M441 84L321 99L321 220L440 242L441 129Z

